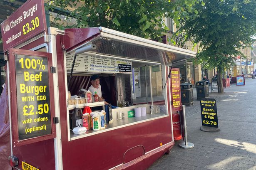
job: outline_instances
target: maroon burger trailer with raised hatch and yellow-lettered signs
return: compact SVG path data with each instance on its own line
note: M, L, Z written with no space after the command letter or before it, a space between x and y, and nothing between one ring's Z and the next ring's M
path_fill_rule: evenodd
M1 24L9 164L18 170L148 168L174 145L171 110L181 102L175 96L171 103L171 64L194 52L104 27L47 28L43 4L29 0ZM75 107L105 108L104 101L69 102L69 91L87 89L93 74L102 96L118 107L104 129L75 134ZM134 117L137 108L145 114Z

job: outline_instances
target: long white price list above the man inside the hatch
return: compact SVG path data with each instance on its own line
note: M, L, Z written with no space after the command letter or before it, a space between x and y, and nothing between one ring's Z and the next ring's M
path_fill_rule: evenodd
M74 56L66 53L67 72L71 71ZM126 73L132 74L132 62L127 60L77 54L74 73Z

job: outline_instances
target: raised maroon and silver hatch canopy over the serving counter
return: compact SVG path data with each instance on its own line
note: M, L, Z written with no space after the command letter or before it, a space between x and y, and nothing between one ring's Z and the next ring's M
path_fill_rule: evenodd
M124 57L171 64L196 55L195 52L133 36L104 27L65 29L65 49L68 53L95 44L87 53L104 57Z

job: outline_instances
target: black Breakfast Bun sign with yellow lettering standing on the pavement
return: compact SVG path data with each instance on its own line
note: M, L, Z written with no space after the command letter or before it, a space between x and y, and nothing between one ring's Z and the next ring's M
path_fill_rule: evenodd
M202 126L218 128L217 103L215 99L201 99Z

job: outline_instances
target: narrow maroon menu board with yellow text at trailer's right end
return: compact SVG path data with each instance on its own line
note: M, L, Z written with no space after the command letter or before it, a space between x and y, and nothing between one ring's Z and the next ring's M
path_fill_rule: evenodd
M180 98L180 83L179 83L179 69L171 69L171 100L172 100L172 110L181 110L181 98Z

